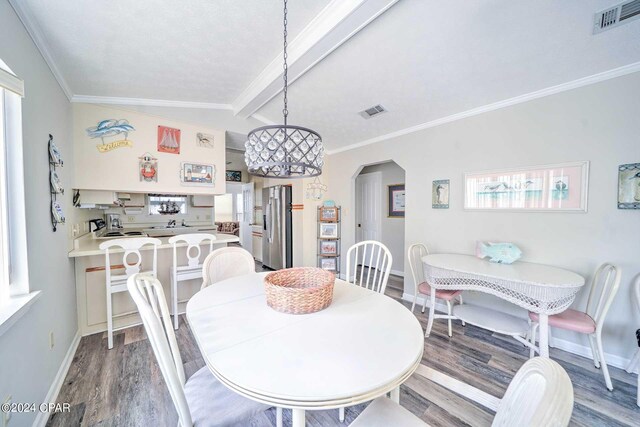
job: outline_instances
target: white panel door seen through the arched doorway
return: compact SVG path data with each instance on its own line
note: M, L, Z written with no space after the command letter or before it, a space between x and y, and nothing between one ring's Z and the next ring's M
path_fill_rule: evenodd
M373 172L356 178L356 243L381 238L382 174Z

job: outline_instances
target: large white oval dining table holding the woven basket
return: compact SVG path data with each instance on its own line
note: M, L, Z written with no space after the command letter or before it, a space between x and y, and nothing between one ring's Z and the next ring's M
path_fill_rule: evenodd
M336 280L332 304L292 315L267 306L265 273L215 283L187 304L187 320L213 375L231 390L291 408L293 426L306 410L351 406L391 392L422 359L416 317L397 301Z

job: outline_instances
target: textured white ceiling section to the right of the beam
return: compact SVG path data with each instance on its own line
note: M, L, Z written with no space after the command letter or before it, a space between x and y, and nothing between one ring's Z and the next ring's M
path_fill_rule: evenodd
M615 0L401 0L289 91L329 149L640 61L640 20L592 35ZM281 97L260 114L280 120ZM389 112L365 120L375 104Z

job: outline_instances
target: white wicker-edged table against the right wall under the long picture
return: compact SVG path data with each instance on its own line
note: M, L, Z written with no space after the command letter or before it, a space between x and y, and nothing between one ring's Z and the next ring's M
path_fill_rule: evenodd
M422 262L425 279L435 289L485 292L537 313L542 357L549 357L549 315L569 308L584 285L577 273L530 262L499 264L462 254L431 254Z

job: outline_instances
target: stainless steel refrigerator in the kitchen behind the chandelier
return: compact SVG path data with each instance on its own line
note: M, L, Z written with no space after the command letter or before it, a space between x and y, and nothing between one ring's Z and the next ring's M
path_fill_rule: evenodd
M262 215L262 264L274 270L293 267L291 187L262 189Z

